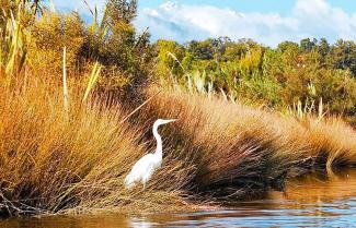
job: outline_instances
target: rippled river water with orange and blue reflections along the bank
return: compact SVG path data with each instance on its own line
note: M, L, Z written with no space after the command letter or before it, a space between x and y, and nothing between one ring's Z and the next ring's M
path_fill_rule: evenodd
M112 227L356 227L356 170L288 181L285 192L233 208L191 214L44 217L1 220L9 228Z

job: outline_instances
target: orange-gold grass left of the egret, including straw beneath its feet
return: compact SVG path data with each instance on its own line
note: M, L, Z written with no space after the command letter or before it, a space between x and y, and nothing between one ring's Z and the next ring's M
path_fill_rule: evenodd
M125 190L125 176L146 153L140 130L122 122L118 105L82 103L80 89L70 89L66 110L60 86L50 84L0 86L1 214L154 209L182 201L186 173L173 159L145 191Z

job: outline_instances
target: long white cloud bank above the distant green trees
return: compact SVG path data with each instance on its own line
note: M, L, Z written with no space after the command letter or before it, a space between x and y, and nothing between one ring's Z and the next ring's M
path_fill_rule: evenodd
M140 10L135 24L139 29L149 27L153 39L182 43L219 36L253 38L269 46L305 37L326 37L331 41L356 39L356 12L348 14L325 0L297 0L287 16L166 2L156 9Z

